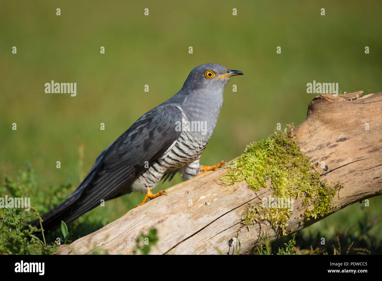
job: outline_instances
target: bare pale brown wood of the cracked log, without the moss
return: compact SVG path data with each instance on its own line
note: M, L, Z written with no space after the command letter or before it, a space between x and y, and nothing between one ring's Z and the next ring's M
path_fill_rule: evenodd
M329 214L352 203L382 194L382 93L361 96L363 92L334 97L315 97L308 116L294 129L301 151L329 185L342 182ZM365 127L369 126L369 130ZM325 162L327 171L321 166ZM150 254L227 254L234 249L236 231L248 202L259 202L273 190L262 188L255 193L244 181L223 185L220 177L227 169L206 172L167 189L168 196L155 198L98 231L62 245L57 254L88 254L99 248L111 254L132 253L136 238L149 229L157 229L159 240ZM323 217L304 220L306 206L296 198L286 232L291 234ZM329 215L328 214L328 215ZM282 235L269 222L241 228L241 253L255 249L265 231L269 240Z

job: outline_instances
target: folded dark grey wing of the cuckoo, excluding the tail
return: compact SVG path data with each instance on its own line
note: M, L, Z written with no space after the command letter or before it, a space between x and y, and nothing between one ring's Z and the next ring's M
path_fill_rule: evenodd
M105 151L79 203L106 201L146 171L178 139L181 132L176 130L176 122L181 119L182 111L174 104L155 107L138 119Z

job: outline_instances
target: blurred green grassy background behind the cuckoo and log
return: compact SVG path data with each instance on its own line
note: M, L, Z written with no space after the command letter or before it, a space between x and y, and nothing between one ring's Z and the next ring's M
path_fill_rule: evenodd
M34 198L52 196L51 186L70 184L65 190L70 194L105 147L175 94L193 67L211 62L244 73L227 85L217 128L201 157L204 165L229 161L251 141L272 134L277 123L303 122L316 96L306 93L313 80L338 83L342 93L382 91L381 11L381 1L3 3L0 180L15 177L29 161L39 183L30 190L32 205ZM76 82L77 96L46 94L44 84L51 80ZM176 176L159 188L180 181ZM91 218L97 229L142 198L135 193L117 198L81 219ZM305 236L346 231L359 237L359 222L380 218L380 205L376 197L370 207L349 206L305 229ZM378 251L381 230L377 219L363 233L373 237Z

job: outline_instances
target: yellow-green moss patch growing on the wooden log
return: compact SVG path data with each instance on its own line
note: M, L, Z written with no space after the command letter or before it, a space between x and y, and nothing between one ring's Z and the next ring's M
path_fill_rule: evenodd
M274 190L272 198L290 198L291 202L304 197L303 205L309 206L304 212L306 220L328 214L339 188L337 185L332 188L320 179L308 156L300 151L291 126L248 145L244 153L228 166L228 174L221 180L226 185L246 180L254 192L269 185ZM286 235L286 222L291 211L291 208L280 208L280 205L274 208L272 204L272 208L267 208L263 202L249 203L242 219L248 229L254 223L267 220L275 231Z

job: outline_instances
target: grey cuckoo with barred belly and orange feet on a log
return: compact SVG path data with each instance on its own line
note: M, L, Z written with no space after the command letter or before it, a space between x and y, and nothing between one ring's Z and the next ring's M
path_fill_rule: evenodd
M188 180L221 167L224 161L201 166L199 159L214 133L225 86L235 75L243 72L217 63L193 68L178 93L136 120L99 154L70 197L41 216L43 231L57 229L61 221L74 221L102 200L145 193L137 208L148 199L167 195L165 190L154 194L151 189L161 180L171 180L176 172ZM39 228L40 221L29 225Z

